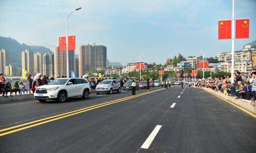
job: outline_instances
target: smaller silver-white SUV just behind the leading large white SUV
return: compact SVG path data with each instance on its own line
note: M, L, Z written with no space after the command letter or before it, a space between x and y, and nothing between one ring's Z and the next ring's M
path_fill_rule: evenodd
M112 94L113 91L121 93L120 83L116 79L103 80L96 86L96 94L99 93L109 93Z

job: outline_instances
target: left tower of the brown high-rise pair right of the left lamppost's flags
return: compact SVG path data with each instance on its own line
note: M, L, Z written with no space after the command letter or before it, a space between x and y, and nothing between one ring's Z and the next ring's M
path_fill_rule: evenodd
M87 74L92 68L94 68L94 50L92 45L79 46L79 77Z

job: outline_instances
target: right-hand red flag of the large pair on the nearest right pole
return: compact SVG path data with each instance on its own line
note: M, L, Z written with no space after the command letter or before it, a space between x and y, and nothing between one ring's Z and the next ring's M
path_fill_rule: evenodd
M236 19L236 39L249 38L249 19Z

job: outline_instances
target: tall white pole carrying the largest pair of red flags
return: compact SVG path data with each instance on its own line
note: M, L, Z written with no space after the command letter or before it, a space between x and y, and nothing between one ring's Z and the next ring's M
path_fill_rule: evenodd
M231 48L232 48L232 55L231 55L231 83L234 83L233 73L234 73L234 0L232 0L232 37L231 37Z

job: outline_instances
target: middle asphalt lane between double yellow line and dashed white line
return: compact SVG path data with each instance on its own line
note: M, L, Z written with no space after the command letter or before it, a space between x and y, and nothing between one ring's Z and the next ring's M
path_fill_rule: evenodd
M136 152L179 92L163 90L3 136L1 152Z

